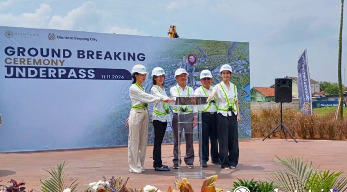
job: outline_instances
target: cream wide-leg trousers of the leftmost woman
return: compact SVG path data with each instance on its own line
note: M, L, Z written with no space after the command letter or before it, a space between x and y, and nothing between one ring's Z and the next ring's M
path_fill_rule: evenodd
M130 172L141 173L145 168L147 138L147 109L131 109L128 138L128 163Z

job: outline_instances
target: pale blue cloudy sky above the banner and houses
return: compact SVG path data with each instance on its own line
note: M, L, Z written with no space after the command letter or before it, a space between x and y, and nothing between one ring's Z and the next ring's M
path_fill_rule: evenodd
M0 0L2 26L249 42L251 87L297 76L305 48L311 78L337 82L340 14L341 0Z

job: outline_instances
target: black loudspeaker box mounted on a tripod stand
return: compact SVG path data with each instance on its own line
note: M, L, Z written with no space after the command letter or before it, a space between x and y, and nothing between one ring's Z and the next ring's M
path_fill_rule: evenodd
M292 102L292 79L275 79L275 102Z

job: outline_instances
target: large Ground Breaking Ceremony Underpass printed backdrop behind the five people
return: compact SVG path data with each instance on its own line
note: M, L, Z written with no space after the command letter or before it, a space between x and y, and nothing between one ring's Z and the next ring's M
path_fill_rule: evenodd
M218 67L229 63L242 115L239 138L251 137L247 42L0 26L0 49L0 152L126 146L135 64L149 72L163 67L170 93L177 68L189 72L195 89L201 70L209 69L216 84ZM144 86L150 92L150 77ZM148 134L153 143L151 124ZM171 125L164 142L173 142Z

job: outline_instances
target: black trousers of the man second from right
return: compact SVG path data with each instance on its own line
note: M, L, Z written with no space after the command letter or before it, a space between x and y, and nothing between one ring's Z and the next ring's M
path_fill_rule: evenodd
M211 160L212 162L219 162L218 142L217 142L217 113L211 114L209 112L201 113L201 126L202 126L202 162L208 161L209 149L208 140L211 141Z

